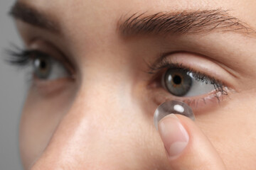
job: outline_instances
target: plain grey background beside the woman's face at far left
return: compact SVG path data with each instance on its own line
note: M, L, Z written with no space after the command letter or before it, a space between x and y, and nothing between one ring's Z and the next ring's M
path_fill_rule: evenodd
M25 98L24 73L4 62L4 49L21 47L14 22L7 15L14 0L0 0L0 170L22 169L18 154L18 121Z

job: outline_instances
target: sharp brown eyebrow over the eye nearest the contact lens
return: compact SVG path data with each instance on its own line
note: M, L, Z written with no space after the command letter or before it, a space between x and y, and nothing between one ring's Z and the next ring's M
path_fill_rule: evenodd
M204 11L134 13L129 18L121 16L117 32L124 37L134 35L184 35L210 33L213 30L252 34L250 28L238 18L221 9Z

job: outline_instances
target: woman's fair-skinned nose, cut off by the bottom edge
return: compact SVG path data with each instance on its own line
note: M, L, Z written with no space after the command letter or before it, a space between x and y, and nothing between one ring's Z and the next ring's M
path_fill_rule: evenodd
M137 169L128 162L138 161L132 148L138 147L136 131L144 116L133 105L129 87L120 86L82 84L31 170Z

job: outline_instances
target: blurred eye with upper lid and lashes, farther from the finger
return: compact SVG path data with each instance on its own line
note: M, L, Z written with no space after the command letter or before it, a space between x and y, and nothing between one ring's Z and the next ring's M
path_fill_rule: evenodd
M14 45L8 50L10 64L26 69L28 75L39 81L51 81L75 77L73 63L65 57L58 47L43 40L35 40L30 49L21 49Z

